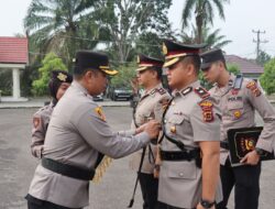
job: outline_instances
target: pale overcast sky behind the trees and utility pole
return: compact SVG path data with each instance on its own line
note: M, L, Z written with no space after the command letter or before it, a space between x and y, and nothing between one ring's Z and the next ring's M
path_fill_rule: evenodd
M12 36L23 33L23 18L31 0L1 1L0 7L0 36ZM180 18L184 0L173 0L169 10L169 20L173 28L180 30ZM262 50L275 56L275 0L231 0L226 6L226 21L216 15L212 29L221 29L220 34L226 35L232 43L223 50L227 54L242 57L255 57L256 34L252 30L265 31L261 34Z

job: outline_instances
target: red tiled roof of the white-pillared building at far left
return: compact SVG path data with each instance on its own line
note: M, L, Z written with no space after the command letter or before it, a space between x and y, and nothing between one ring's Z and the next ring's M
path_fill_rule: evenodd
M0 37L0 63L28 64L28 38Z

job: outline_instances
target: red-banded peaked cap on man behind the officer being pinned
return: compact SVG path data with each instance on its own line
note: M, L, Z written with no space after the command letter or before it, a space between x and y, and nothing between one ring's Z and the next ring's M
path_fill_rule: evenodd
M139 68L136 69L136 72L142 72L147 69L148 67L163 67L164 62L157 58L153 58L153 57L148 57L146 55L143 54L139 54L138 55L138 65Z

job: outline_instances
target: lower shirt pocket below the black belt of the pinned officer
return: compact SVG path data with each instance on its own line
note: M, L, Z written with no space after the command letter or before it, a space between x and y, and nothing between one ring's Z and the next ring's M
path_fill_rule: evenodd
M167 176L169 178L196 179L197 167L195 162L173 162L168 165Z

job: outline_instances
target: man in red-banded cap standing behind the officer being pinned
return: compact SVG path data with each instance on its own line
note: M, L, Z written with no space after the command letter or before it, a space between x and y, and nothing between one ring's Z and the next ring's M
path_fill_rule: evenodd
M132 121L132 129L146 123L151 119L162 121L163 107L169 100L169 94L162 85L163 61L145 55L138 55L138 81L144 88ZM143 152L145 152L143 154ZM138 172L143 197L144 209L155 209L157 204L158 180L154 177L156 145L148 144L144 151L134 153L130 166ZM139 170L142 160L142 167Z

